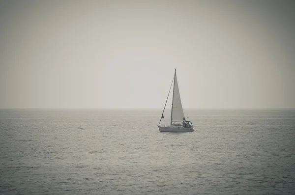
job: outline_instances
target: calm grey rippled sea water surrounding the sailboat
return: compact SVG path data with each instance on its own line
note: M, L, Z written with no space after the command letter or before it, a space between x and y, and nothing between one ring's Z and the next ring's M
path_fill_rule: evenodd
M0 110L0 195L295 194L294 110L185 113Z

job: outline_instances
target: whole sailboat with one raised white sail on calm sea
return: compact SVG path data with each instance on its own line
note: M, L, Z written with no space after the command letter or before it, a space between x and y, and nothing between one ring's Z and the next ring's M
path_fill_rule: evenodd
M170 126L160 126L162 118L164 118L164 111L167 104L167 100L170 94L171 86L173 84L173 96L172 96L172 109L171 109L171 119L170 119ZM172 80L172 83L170 85L170 89L168 92L168 96L166 99L166 103L164 106L164 110L162 112L162 116L160 119L160 122L158 124L158 128L160 132L193 132L193 124L191 121L185 120L180 94L179 94L179 88L177 83L177 76L176 76L176 69L174 72L174 77Z

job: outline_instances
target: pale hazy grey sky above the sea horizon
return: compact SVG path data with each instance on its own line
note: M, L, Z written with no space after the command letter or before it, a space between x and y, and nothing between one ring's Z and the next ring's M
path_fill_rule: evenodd
M0 108L162 109L176 67L184 108L295 108L295 1L0 1Z

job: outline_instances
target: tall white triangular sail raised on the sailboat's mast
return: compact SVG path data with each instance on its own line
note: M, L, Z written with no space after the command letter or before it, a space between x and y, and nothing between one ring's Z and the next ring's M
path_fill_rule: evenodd
M184 114L183 114L183 109L182 109L181 100L180 100L176 71L175 71L175 76L174 76L173 89L174 90L173 90L171 121L183 121Z

